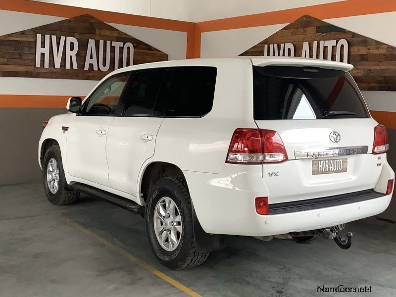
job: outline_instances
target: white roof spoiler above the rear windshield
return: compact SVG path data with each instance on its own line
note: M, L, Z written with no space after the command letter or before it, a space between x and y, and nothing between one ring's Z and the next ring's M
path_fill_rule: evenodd
M294 58L294 57L251 57L251 63L254 66L308 66L319 67L326 69L335 69L348 72L353 69L353 65L341 62L308 59L308 58Z

